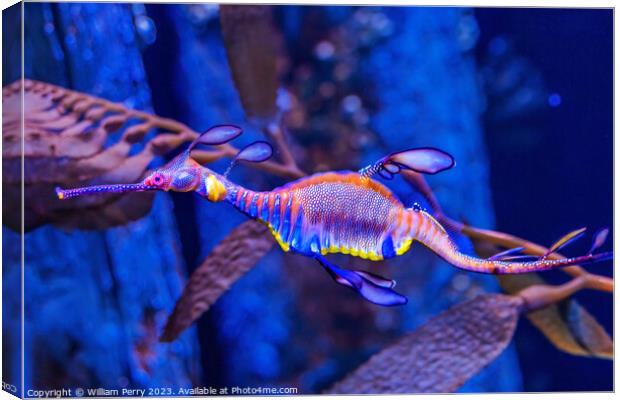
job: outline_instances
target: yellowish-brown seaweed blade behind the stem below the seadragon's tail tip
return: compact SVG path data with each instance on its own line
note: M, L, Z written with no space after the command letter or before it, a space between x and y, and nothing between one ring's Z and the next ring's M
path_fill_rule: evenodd
M517 293L544 284L536 274L502 275L502 289ZM613 358L613 341L596 319L574 299L567 299L526 314L558 349L577 356Z

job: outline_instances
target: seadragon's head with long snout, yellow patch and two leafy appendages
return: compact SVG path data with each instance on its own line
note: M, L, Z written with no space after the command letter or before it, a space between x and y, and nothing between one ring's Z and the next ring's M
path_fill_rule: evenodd
M224 176L200 165L190 153L199 144L219 145L231 141L241 134L241 128L233 125L218 125L196 138L183 153L165 166L154 170L142 182L115 185L87 186L76 189L56 188L59 199L71 199L97 193L127 193L150 190L197 192L206 199L217 202L226 198L226 175L238 161L262 162L271 157L272 148L266 142L254 142L233 158Z

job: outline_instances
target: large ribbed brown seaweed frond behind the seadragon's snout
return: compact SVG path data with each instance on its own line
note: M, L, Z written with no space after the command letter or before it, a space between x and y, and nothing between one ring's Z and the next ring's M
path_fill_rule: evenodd
M2 90L4 223L20 229L21 90L14 82ZM140 179L157 149L132 145L153 129L140 113L123 105L44 82L23 81L25 230L45 223L101 229L144 216L152 194L105 195L60 202L56 186L126 183ZM120 131L118 138L111 134ZM177 135L182 136L182 135ZM105 146L107 141L112 144ZM183 136L181 144L189 138ZM132 201L128 201L132 199Z

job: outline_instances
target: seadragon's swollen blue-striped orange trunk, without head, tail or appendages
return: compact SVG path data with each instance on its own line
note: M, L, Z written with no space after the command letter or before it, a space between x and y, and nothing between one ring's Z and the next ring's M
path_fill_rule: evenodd
M229 202L265 223L283 250L302 254L391 258L409 249L425 221L388 188L355 172L316 174L270 192L234 186L229 193Z

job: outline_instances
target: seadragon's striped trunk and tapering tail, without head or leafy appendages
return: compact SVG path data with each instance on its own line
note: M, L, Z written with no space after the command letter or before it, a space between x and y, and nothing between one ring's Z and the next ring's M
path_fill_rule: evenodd
M226 200L266 224L284 251L308 256L343 253L380 261L404 254L417 241L448 263L481 273L524 273L596 260L592 255L528 262L469 256L432 215L405 208L390 189L356 172L319 173L269 192L228 182L226 191Z

